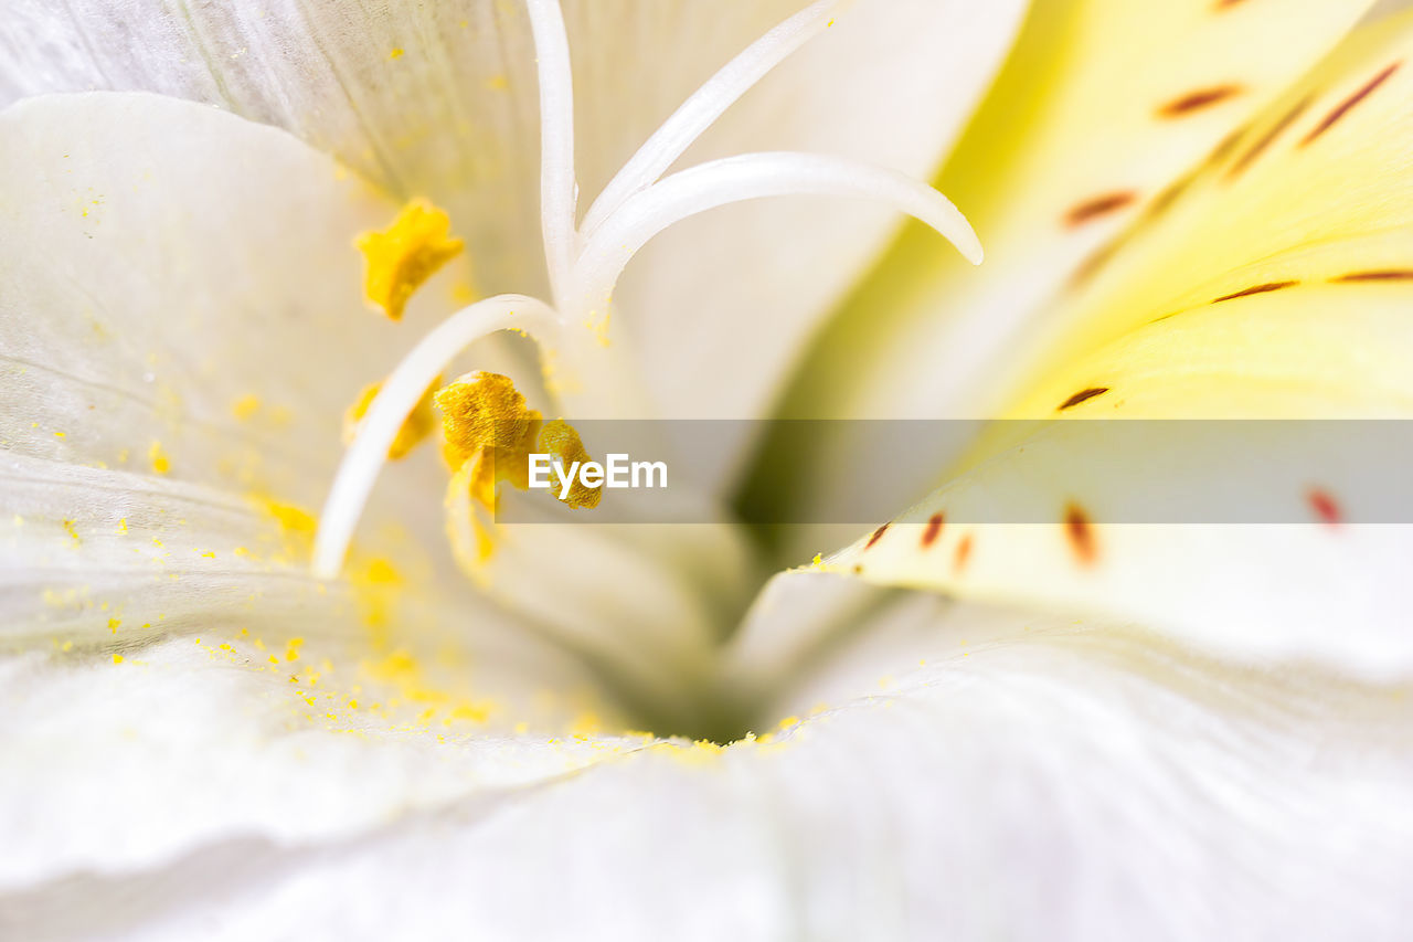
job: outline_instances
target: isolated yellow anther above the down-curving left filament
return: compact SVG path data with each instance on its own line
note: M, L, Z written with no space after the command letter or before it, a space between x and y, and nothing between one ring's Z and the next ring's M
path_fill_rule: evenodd
M437 269L456 257L465 243L452 239L451 218L425 199L413 199L387 229L357 239L367 260L363 291L367 300L397 321L413 291Z

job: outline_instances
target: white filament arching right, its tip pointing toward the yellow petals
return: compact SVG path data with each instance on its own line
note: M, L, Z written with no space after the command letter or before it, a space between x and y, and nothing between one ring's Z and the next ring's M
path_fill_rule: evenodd
M742 154L684 170L629 197L584 246L575 267L575 297L585 306L606 303L637 250L675 222L732 202L787 195L889 204L935 229L972 264L982 262L981 242L966 216L947 197L907 174L824 154Z

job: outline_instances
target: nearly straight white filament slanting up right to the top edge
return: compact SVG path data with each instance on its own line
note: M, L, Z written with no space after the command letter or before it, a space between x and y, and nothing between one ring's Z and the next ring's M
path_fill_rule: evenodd
M776 24L740 55L706 79L691 98L653 132L653 136L623 164L584 216L585 240L633 194L657 182L667 168L749 92L770 69L829 25L829 14L842 0L818 0L788 20Z

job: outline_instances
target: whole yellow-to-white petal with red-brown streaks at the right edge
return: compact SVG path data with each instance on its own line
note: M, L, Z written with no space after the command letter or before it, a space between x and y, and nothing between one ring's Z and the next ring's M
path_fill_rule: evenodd
M1405 14L1243 129L1060 311L1051 368L1009 413L1053 421L1006 423L931 496L828 562L1116 614L1239 658L1373 678L1413 668L1413 528L1366 485L1388 461L1348 431L1361 426L1243 423L1234 443L1225 421L1146 421L1095 461L1115 424L1085 421L1413 417L1410 58ZM1283 525L1204 516L1204 495L1234 481ZM1154 492L1195 513L1136 523L1125 508Z

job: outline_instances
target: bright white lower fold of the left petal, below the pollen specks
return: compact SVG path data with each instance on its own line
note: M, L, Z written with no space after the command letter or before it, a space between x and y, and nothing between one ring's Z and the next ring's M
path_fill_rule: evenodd
M478 669L468 685L445 670L360 666L357 644L318 636L298 662L281 642L270 666L252 641L212 627L199 644L127 649L122 663L81 649L0 662L0 900L225 842L300 847L462 799L495 805L642 744L571 734L574 710L584 728L613 716L591 716L592 690L552 661L531 682L514 651L459 652L456 672L496 662L499 679ZM524 696L497 699L517 673ZM517 723L538 733L513 733Z

